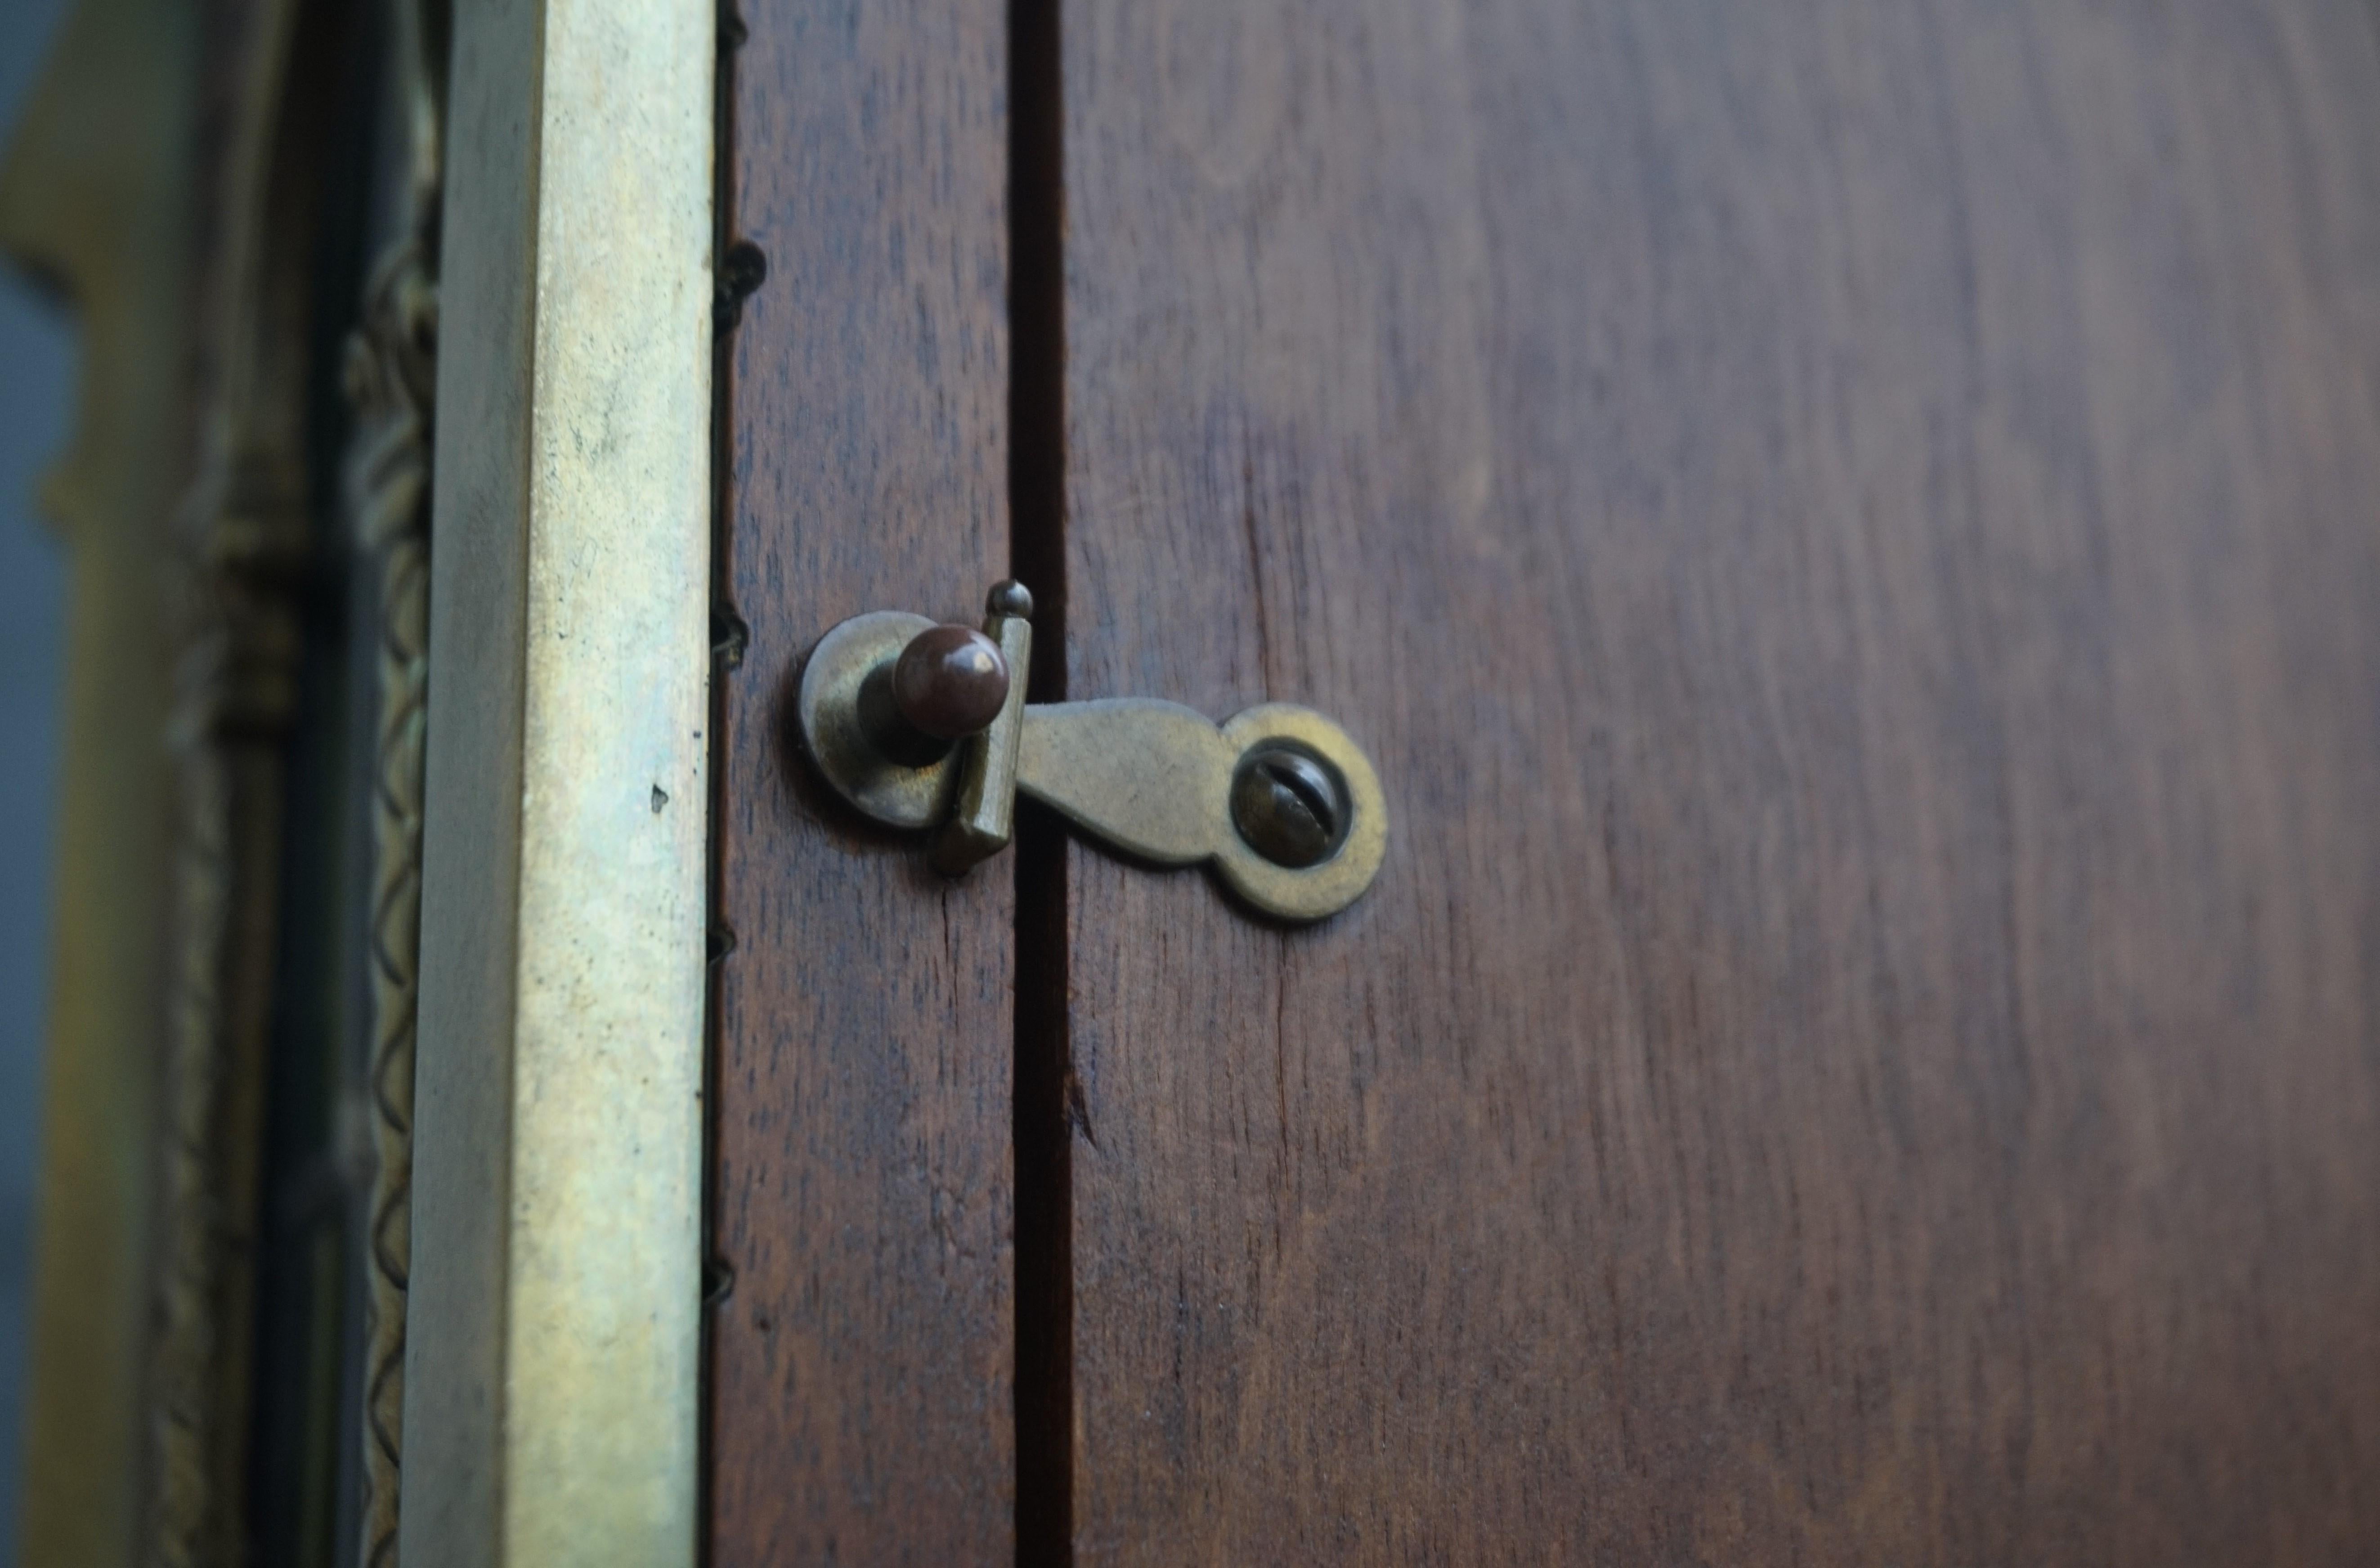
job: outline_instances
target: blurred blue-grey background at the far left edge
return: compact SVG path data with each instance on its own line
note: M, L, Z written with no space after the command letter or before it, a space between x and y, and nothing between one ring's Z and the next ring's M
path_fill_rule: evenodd
M17 128L64 0L0 5L0 140ZM67 562L36 488L74 424L74 328L0 266L0 1561L17 1561L40 1028L50 976L50 819Z

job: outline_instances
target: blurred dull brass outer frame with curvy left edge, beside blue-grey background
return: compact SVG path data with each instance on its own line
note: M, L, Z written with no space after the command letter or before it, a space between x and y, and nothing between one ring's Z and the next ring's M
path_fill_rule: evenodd
M0 162L0 252L74 307L64 766L26 1344L26 1563L131 1568L145 1523L148 1261L171 776L159 557L188 476L198 12L81 0Z

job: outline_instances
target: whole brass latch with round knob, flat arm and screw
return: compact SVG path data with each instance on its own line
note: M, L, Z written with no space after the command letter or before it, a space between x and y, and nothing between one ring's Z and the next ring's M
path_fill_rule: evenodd
M1357 902L1388 852L1388 799L1364 749L1288 702L1221 726L1152 697L1026 702L1033 595L1000 583L983 631L878 609L819 640L802 742L835 795L933 830L945 876L1009 842L1016 795L1157 866L1214 861L1264 914L1319 921Z

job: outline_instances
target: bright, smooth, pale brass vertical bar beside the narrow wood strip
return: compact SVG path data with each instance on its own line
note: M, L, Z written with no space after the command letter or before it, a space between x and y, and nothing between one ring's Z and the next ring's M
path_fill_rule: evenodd
M400 1561L693 1563L716 7L455 24Z

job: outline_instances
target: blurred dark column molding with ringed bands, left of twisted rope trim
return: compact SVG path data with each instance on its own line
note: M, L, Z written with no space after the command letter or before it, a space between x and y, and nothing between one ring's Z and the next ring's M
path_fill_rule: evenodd
M150 1340L157 1568L248 1561L257 1247L286 742L314 550L309 366L347 14L238 10L209 202L200 471L174 526L174 928Z

